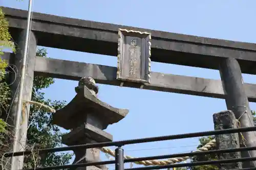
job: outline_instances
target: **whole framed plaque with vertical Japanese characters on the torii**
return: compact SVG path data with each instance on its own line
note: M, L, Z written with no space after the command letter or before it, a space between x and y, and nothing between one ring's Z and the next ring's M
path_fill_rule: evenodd
M150 57L150 33L118 30L118 80L150 83Z

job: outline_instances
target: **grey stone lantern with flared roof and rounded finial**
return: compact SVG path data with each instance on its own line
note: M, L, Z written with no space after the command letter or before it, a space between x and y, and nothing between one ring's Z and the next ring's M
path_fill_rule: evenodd
M100 101L96 96L98 87L90 77L81 78L75 91L77 93L75 98L53 115L53 124L71 130L70 133L62 136L62 143L77 145L112 141L112 135L103 130L108 125L119 122L129 110L114 108ZM99 152L98 148L74 150L75 160L73 164L100 161ZM97 170L106 169L106 166L98 165L75 169Z

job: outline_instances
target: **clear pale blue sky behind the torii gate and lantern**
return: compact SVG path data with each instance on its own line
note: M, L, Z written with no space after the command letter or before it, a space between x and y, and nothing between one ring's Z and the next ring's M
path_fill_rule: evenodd
M27 10L28 0L2 0L0 6ZM32 10L118 25L255 43L255 6L255 0L37 0L34 1ZM47 48L47 51L51 58L117 65L117 58L112 56L55 48ZM220 79L218 70L173 64L153 62L152 71ZM253 75L243 75L243 78L246 83L256 83ZM45 90L46 96L52 100L69 102L75 96L74 88L77 83L56 80L55 84ZM115 107L130 109L123 120L106 129L114 140L213 130L212 114L226 109L225 101L221 99L100 84L99 99ZM250 103L250 106L252 110L256 110L255 104ZM126 155L140 157L191 151L196 149L197 144L198 138L191 138L133 144L124 149Z

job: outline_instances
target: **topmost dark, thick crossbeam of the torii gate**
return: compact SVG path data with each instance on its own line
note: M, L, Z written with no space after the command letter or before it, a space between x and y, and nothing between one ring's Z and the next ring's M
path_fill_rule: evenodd
M13 39L26 27L27 11L3 7ZM89 20L33 13L37 45L117 56L118 29L149 32L155 62L219 69L222 59L239 61L241 71L256 74L256 44L175 34ZM67 43L72 42L72 43Z

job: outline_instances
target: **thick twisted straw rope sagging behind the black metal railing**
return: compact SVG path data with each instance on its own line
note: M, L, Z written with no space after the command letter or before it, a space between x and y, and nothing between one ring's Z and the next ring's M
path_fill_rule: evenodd
M197 149L196 151L193 152L202 152L202 151L209 151L211 150L213 147L215 147L216 145L216 140L211 140L208 143L206 143L202 148ZM100 150L102 152L104 152L105 154L109 154L113 157L115 157L115 152L112 151L109 148L100 148ZM131 159L134 157L131 156L124 156L124 159ZM146 161L138 161L138 162L134 162L136 164L139 165L145 165L145 166L149 166L149 165L168 165L168 164L174 164L174 163L179 163L179 162L183 162L187 159L189 159L190 157L185 156L185 157L177 157L177 158L169 158L167 160L146 160Z

